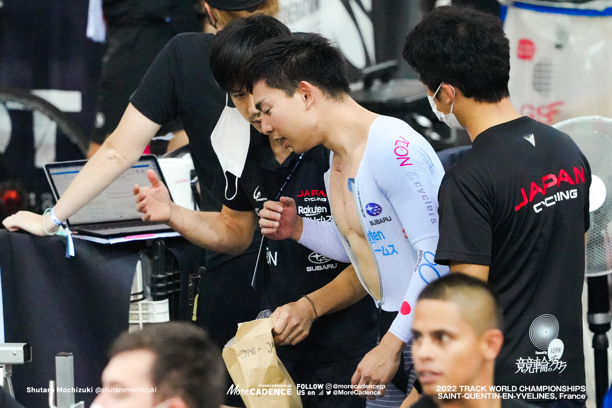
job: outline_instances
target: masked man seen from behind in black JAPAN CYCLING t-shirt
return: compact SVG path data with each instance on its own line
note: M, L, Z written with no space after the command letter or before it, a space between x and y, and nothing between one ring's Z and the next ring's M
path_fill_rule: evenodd
M506 323L496 385L583 389L588 161L568 135L513 108L510 44L499 18L439 7L408 35L403 55L438 117L472 139L442 179L436 262L487 281L499 299ZM540 369L524 368L531 361ZM523 398L584 406L573 394Z

